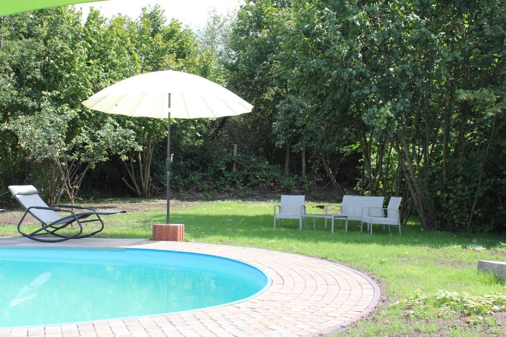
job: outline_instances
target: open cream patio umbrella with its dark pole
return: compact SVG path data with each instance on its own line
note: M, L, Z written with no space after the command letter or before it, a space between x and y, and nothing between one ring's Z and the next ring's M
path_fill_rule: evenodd
M167 119L167 224L170 223L171 118L233 116L253 108L219 84L175 70L126 78L82 104L108 114Z

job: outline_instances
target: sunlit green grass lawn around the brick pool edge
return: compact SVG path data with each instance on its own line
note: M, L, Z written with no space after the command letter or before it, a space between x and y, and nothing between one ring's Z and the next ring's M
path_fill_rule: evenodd
M501 313L482 315L483 320L465 323L461 313L438 317L438 312L406 305L392 306L396 301L416 294L429 297L439 291L482 295L503 293L504 282L477 272L478 260L504 260L506 237L497 235L426 232L412 219L392 233L376 225L373 235L360 233L358 223L350 221L349 230L324 229L317 220L317 230L308 220L308 228L299 230L298 220L283 220L282 228L273 228L273 202L189 202L172 211L172 223L184 223L186 240L212 244L258 247L304 254L340 262L364 271L382 288L382 302L368 318L340 332L349 335L504 335L506 317ZM308 204L308 213L321 212ZM106 218L102 237L151 237L151 225L163 223L159 205L154 210L120 214ZM107 225L109 223L109 225ZM112 225L114 223L114 225ZM330 225L330 222L329 222ZM330 227L330 226L329 226ZM0 226L0 235L16 235L12 225ZM98 236L98 235L97 235ZM434 300L427 300L431 304ZM474 317L474 316L471 316Z

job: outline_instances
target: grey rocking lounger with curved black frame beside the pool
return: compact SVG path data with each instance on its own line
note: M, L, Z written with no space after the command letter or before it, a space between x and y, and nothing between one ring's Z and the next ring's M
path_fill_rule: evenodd
M19 220L18 232L25 237L39 242L62 242L71 238L83 238L95 235L104 229L104 222L100 218L100 215L125 213L125 211L122 210L97 211L91 207L71 205L54 205L49 207L44 200L40 198L37 189L32 185L9 186L9 190L26 210L21 220ZM88 210L89 212L74 213L71 209ZM60 216L57 212L65 212L69 215ZM21 230L21 224L28 213L42 223L41 228L31 233L25 233ZM87 219L91 216L92 219ZM87 222L100 222L101 226L91 233L82 234L82 224ZM70 224L76 224L78 226L76 233L70 235L58 233L59 230L66 228Z

